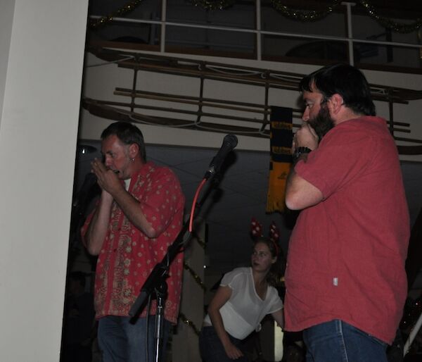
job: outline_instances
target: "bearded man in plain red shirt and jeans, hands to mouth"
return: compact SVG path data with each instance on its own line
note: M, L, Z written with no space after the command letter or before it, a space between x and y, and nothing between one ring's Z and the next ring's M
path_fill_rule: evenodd
M409 211L394 139L351 65L300 82L286 206L301 210L286 268L286 330L309 362L386 362L407 295Z

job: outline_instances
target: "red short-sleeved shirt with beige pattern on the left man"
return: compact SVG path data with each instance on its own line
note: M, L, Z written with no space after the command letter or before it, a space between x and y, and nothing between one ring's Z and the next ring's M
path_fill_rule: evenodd
M148 238L124 216L120 206L113 203L108 232L96 266L96 318L128 316L146 278L181 230L184 195L172 170L148 162L139 173L132 175L128 192L139 201L141 212L159 235ZM82 228L82 237L93 214L94 211ZM172 323L177 323L179 313L182 269L183 254L179 253L166 280L165 319ZM155 314L155 311L153 301L151 313ZM144 308L141 317L146 313Z

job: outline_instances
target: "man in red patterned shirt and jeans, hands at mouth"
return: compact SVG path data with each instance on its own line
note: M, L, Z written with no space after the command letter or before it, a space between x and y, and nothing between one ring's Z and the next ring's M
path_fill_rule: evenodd
M98 255L95 297L98 344L103 362L153 361L154 322L143 310L136 323L129 309L143 283L181 230L184 195L172 170L146 162L139 128L130 123L109 125L101 134L104 163L95 159L92 172L101 198L82 228L84 244ZM177 323L183 256L170 266L165 303L165 334ZM155 314L153 302L150 314ZM148 327L148 339L146 328Z

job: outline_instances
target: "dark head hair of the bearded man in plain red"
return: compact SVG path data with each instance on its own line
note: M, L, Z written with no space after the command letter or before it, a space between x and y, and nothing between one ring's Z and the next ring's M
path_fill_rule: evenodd
M345 106L354 113L375 116L375 105L368 81L363 73L352 65L343 63L326 65L303 77L299 89L301 92L318 90L324 99L330 98L333 94L340 94Z

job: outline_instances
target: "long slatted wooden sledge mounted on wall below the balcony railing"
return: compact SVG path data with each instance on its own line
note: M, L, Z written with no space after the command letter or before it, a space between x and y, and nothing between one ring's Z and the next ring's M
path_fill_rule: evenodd
M191 130L208 132L236 133L250 137L269 137L269 106L270 89L287 89L297 92L298 84L303 75L280 72L275 70L248 68L238 65L212 63L186 58L174 58L139 54L128 51L110 49L91 49L98 58L113 61L119 67L129 68L134 71L132 89L116 87L114 94L127 96L127 102L103 101L84 98L82 104L89 112L96 116L113 120L125 120L132 123L148 123L170 127L183 127ZM179 94L166 94L148 92L136 89L136 78L139 70L196 77L200 80L198 96L182 96ZM264 87L264 102L252 104L227 99L204 97L204 80L219 80L245 85ZM422 140L407 137L396 137L395 132L410 133L409 123L396 122L393 118L393 105L408 104L409 101L422 99L422 91L398 87L385 87L370 85L373 99L385 101L389 104L390 119L388 125L390 132L397 141L421 144L411 146L397 146L400 154L422 154ZM147 102L137 103L139 100L149 99ZM160 105L164 104L164 105ZM174 104L174 106L169 106ZM186 109L189 106L190 109ZM151 116L145 111L156 111L161 116ZM249 116L233 116L234 111ZM225 113L224 113L225 112ZM167 115L170 115L167 116ZM186 120L175 115L184 115L191 118ZM293 118L301 118L302 111L293 109ZM255 117L254 117L255 116ZM204 121L206 118L207 121ZM215 120L215 121L212 121ZM300 123L293 123L293 127L300 127Z

